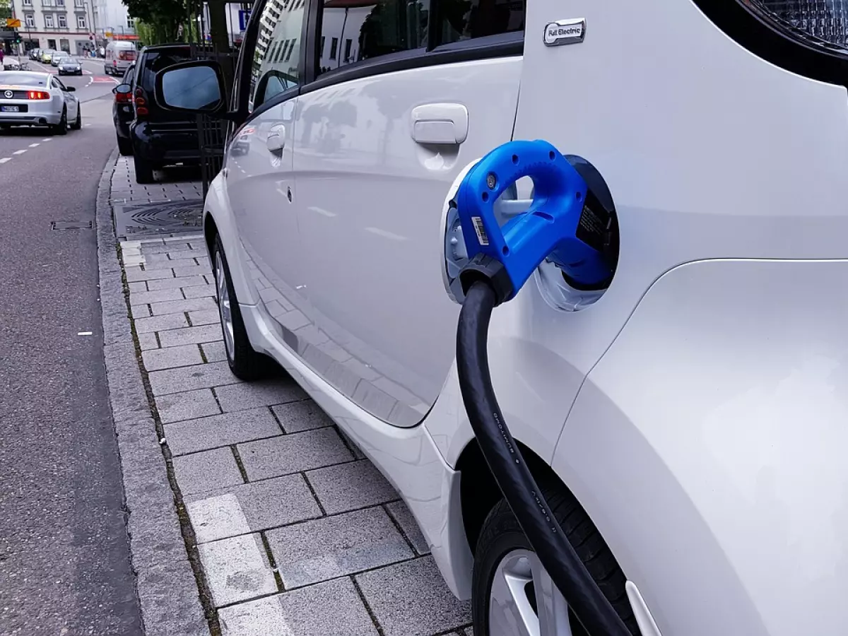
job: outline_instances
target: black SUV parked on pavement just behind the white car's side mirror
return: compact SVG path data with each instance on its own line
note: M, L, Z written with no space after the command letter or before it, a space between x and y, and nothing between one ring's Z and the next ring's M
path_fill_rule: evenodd
M153 183L153 170L165 165L197 164L200 160L194 116L163 109L153 98L156 74L189 59L192 51L187 44L144 47L138 55L132 81L134 116L130 123L138 183Z

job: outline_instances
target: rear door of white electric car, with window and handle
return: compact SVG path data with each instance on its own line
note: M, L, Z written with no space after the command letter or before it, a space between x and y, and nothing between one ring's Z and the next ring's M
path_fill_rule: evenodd
M510 140L521 71L522 2L436 2L326 0L317 78L295 122L316 340L304 358L402 427L427 414L455 353L444 198L460 170Z

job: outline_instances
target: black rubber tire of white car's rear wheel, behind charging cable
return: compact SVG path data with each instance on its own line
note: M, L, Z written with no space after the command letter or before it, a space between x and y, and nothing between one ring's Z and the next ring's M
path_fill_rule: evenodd
M610 600L618 616L622 617L630 633L638 636L639 626L624 589L627 577L618 566L616 557L612 555L604 538L600 536L598 528L594 527L586 511L571 493L563 488L555 490L542 488L542 490L554 516L560 522L563 532L566 533L566 538L577 550L589 573L606 598ZM521 526L518 525L516 516L512 514L510 506L505 499L501 499L489 511L486 521L483 522L474 555L472 613L475 636L488 636L488 603L494 574L501 559L512 550L530 550L530 544ZM605 636L604 634L587 634L573 616L572 633L574 636Z

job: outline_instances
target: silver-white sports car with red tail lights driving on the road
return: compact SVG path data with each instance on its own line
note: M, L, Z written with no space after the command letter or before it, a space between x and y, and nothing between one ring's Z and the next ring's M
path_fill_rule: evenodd
M48 126L64 135L82 127L80 102L73 86L64 86L50 73L0 71L0 129L9 126Z

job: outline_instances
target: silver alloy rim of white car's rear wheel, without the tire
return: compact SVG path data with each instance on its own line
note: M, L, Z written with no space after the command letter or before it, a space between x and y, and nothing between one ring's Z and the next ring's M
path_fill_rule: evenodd
M489 636L576 636L568 604L530 550L507 552L488 599Z

